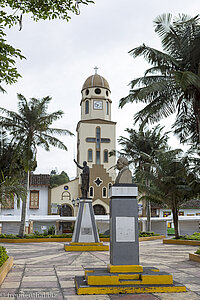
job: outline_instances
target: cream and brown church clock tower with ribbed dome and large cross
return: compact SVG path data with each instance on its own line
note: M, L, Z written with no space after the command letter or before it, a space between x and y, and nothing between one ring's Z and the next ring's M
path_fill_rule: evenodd
M77 124L77 161L80 165L87 161L90 167L88 196L93 199L95 214L105 214L108 213L109 186L116 177L114 168L111 168L116 163L115 157L109 157L109 152L116 149L116 122L111 121L109 84L97 74L97 68L95 74L86 79L81 94L81 120ZM81 170L77 169L78 176L80 173Z

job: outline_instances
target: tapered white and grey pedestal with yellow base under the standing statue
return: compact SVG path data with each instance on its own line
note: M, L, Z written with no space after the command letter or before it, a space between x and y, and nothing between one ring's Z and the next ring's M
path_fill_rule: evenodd
M64 245L65 251L108 251L109 246L99 240L91 199L81 199L72 236Z

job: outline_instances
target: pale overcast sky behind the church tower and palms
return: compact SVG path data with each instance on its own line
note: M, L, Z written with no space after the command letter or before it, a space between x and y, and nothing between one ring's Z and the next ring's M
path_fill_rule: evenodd
M129 82L143 75L148 64L133 59L128 51L145 43L162 49L154 32L153 20L160 14L198 14L199 0L96 0L81 5L80 15L64 20L34 22L23 17L23 27L7 30L7 41L21 49L26 60L18 60L22 78L11 86L3 86L7 93L0 95L0 106L17 111L17 93L27 99L51 96L49 112L63 110L64 116L53 127L68 129L74 137L60 138L68 151L39 148L35 173L49 174L52 169L64 170L70 178L76 176L76 125L80 120L82 86L97 66L98 74L107 79L111 89L112 121L117 122L117 138L133 128L133 115L141 104L127 104L118 108L119 100L128 95ZM160 122L169 131L173 117ZM180 147L171 135L170 145ZM119 146L117 146L118 149ZM182 148L182 146L181 146Z

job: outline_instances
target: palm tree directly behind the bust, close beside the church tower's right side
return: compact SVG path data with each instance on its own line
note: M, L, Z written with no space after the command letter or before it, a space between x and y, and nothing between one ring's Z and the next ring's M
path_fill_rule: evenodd
M120 137L118 142L123 147L120 151L121 155L126 156L130 163L134 164L135 174L138 171L145 170L150 172L149 166L144 165L146 155L150 157L155 156L157 150L166 149L168 141L168 133L163 135L163 128L160 126L154 127L152 130L140 128L139 131L134 129L126 129L129 137ZM149 181L146 178L145 184L148 187ZM143 195L145 199L145 194ZM147 231L151 231L151 203L148 198L146 200L146 215L147 215Z

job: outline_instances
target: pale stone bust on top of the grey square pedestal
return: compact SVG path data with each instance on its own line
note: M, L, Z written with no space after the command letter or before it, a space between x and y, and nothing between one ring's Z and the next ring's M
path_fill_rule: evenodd
M128 160L125 157L119 157L116 168L119 173L115 179L115 183L132 183L132 173L128 168Z

